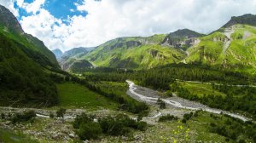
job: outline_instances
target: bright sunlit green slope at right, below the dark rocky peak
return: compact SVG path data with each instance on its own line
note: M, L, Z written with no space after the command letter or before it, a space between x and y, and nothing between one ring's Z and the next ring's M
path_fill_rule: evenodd
M186 61L201 61L212 66L224 66L241 72L255 73L256 67L256 28L237 25L231 34L229 48L223 52L225 36L223 29L207 37L201 37L199 45L189 48ZM245 35L245 33L249 33ZM215 40L213 40L215 39Z

